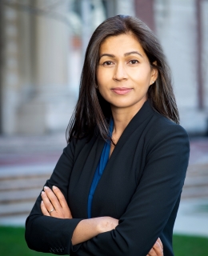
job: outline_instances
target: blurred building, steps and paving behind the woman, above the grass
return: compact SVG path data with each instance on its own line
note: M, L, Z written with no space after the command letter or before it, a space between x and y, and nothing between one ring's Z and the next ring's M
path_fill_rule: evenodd
M208 237L207 0L0 0L0 225L24 225L66 146L90 36L116 14L162 43L191 146L174 232Z

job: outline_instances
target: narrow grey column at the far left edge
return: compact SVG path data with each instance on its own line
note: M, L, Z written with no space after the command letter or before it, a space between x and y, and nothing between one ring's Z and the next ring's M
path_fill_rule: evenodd
M18 79L18 14L8 6L2 6L2 134L16 131L16 108L19 102Z

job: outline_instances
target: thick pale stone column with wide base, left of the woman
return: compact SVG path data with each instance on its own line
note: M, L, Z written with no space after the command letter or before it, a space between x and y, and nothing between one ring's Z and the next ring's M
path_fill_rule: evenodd
M68 1L53 10L48 8L50 4L49 0L34 1L37 10L49 11L49 15L33 17L34 84L32 94L18 111L20 133L65 130L76 100L70 95L68 81L70 26L57 19L66 18Z

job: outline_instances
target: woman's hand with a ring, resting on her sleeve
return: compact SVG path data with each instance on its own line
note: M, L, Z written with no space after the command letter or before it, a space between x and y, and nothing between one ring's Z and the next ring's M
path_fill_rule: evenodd
M53 190L44 186L41 196L41 210L43 215L55 218L72 218L66 199L57 186L53 186Z

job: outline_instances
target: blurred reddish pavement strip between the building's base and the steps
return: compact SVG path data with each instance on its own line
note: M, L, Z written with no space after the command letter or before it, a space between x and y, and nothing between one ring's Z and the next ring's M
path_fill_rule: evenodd
M0 137L0 166L57 162L66 146L65 134ZM190 165L208 164L208 138L190 139Z

